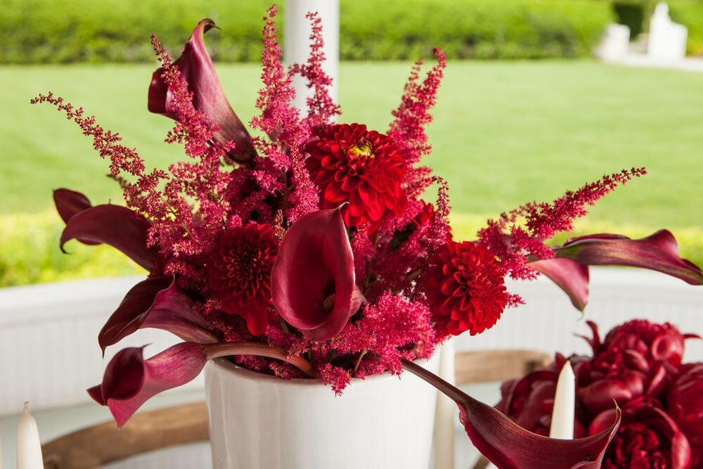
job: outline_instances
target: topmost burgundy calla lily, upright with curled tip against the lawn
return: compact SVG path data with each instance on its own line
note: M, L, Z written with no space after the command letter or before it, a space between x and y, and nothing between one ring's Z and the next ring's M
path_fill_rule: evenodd
M228 155L234 160L244 162L254 156L254 147L249 132L227 101L205 48L205 33L213 27L215 27L213 20L201 20L174 65L179 68L181 76L188 82L188 91L193 93L193 107L205 113L219 127L214 138L220 142L233 141L236 146ZM148 108L152 113L162 114L175 120L177 116L172 103L173 96L162 74L162 68L153 74L149 86Z

